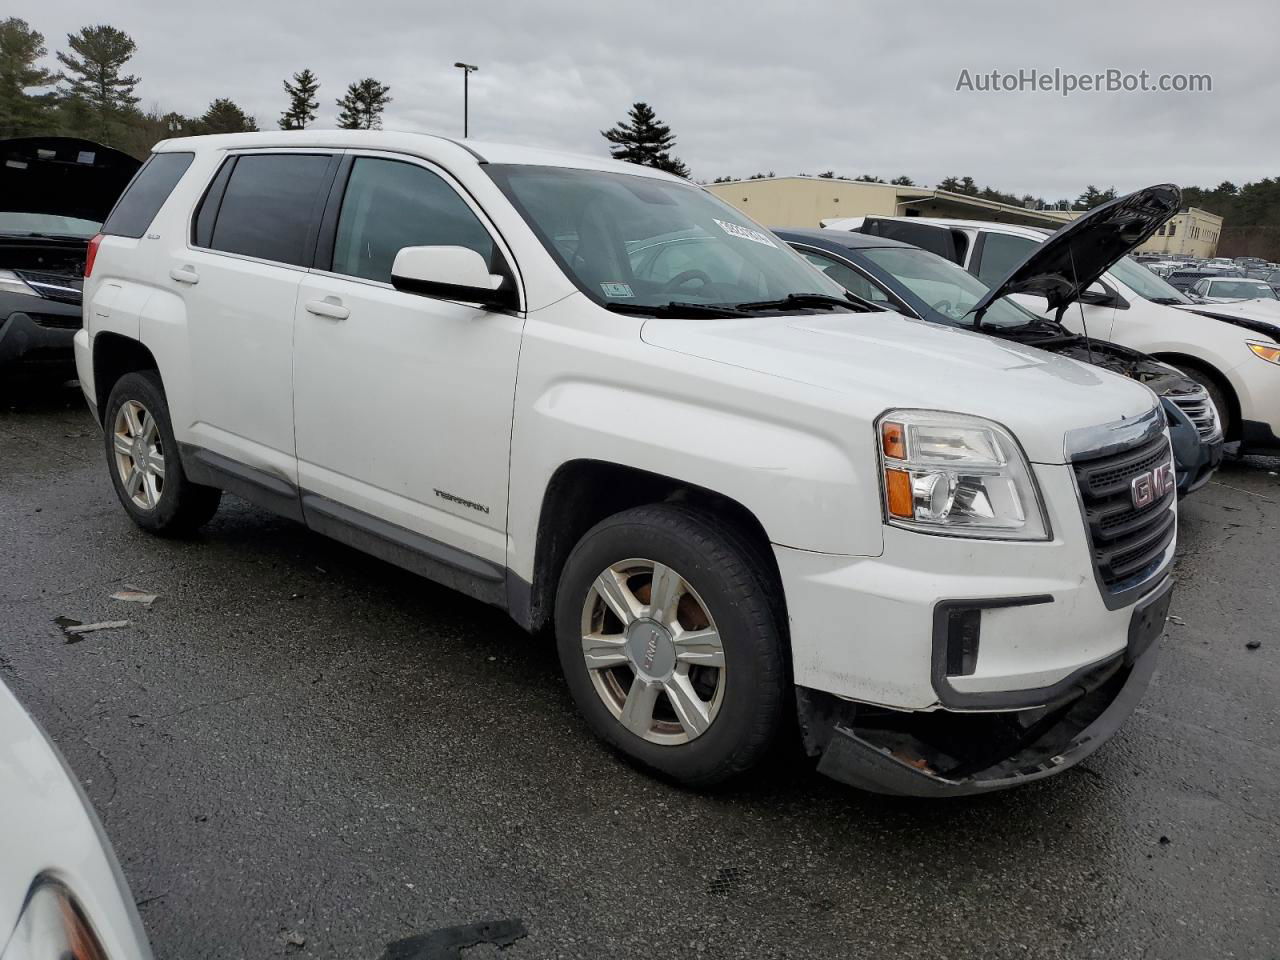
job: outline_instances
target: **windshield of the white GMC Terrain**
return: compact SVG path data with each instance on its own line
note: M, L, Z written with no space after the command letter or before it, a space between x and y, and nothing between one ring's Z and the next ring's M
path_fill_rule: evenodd
M485 169L566 275L605 306L844 300L786 243L698 187L599 170Z

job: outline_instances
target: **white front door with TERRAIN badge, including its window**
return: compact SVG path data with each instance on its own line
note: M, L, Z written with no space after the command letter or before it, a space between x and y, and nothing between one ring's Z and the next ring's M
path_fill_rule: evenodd
M303 508L308 524L339 539L362 527L472 573L457 550L483 558L489 570L481 572L492 573L506 564L524 320L397 291L396 253L434 244L470 247L493 273L508 269L495 230L447 172L415 157L352 151L297 303Z

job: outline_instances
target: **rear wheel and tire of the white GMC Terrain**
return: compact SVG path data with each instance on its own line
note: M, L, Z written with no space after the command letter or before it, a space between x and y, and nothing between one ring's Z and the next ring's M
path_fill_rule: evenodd
M140 370L115 383L102 413L102 433L115 494L140 527L182 536L218 511L223 492L193 484L182 468L160 374Z

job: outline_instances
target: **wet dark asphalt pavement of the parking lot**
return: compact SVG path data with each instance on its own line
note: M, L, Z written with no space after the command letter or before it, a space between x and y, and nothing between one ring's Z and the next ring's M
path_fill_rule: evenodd
M1160 671L1074 771L940 803L780 760L700 795L605 753L552 646L495 609L229 497L196 539L148 536L78 392L10 387L0 678L163 960L376 960L483 922L506 923L463 941L509 946L468 960L1272 960L1277 470L1229 463L1183 503ZM59 617L131 626L68 643Z

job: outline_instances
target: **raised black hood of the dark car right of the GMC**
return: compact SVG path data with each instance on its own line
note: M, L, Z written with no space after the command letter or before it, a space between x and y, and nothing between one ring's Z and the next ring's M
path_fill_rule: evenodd
M987 307L1010 293L1046 297L1050 310L1064 310L1112 264L1160 229L1181 202L1178 187L1157 183L1094 207L1036 247L974 303L973 312L980 317Z

